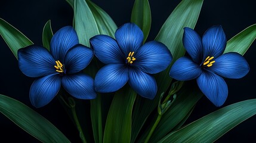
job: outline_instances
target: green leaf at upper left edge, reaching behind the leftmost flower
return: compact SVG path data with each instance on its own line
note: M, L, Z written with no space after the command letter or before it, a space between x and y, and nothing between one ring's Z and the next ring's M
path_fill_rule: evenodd
M23 33L11 26L11 24L7 23L7 21L3 20L2 18L0 18L0 35L2 38L4 38L4 41L7 43L17 59L18 49L33 44L32 41L23 35Z

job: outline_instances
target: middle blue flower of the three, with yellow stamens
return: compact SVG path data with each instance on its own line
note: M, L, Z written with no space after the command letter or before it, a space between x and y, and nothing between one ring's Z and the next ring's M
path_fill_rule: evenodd
M97 92L114 92L127 82L137 94L153 99L158 87L151 74L165 70L172 55L160 42L151 41L143 45L143 32L134 23L119 27L115 39L97 35L90 39L95 56L106 66L95 76Z

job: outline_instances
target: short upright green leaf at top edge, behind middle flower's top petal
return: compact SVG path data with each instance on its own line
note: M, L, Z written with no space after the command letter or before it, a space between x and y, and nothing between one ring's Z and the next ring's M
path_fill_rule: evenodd
M151 27L151 11L148 0L135 0L131 13L131 22L137 24L143 31L143 42L145 42Z

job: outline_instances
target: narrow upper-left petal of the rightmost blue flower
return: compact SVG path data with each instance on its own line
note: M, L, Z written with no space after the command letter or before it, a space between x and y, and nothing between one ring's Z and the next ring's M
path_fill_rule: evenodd
M192 60L200 64L203 58L202 38L195 30L189 27L184 28L183 45Z

